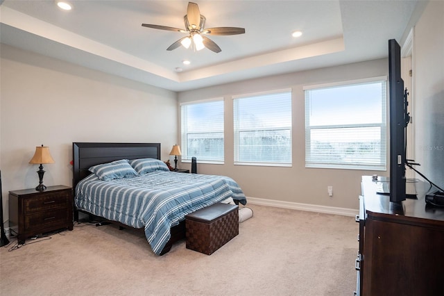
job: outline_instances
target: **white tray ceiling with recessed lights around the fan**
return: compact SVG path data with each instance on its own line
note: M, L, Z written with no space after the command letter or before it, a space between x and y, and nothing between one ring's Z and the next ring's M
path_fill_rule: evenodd
M384 58L387 40L400 42L418 3L196 0L205 27L246 29L210 36L222 49L215 54L167 51L185 33L141 26L184 28L188 1L69 2L67 12L53 0L0 0L1 42L173 91ZM302 37L291 37L295 30Z

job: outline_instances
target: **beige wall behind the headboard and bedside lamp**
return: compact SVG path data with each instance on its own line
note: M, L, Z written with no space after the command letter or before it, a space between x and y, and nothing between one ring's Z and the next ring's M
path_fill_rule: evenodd
M4 220L8 191L38 185L35 147L49 146L44 184L71 186L72 142L160 142L177 134L176 92L1 44L0 165ZM8 225L8 224L6 224Z

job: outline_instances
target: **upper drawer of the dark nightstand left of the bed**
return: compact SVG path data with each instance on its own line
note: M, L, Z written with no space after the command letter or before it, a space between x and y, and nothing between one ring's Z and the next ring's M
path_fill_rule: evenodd
M51 208L59 208L67 206L71 195L66 192L51 192L39 197L24 199L24 213L35 213L39 211L47 211Z

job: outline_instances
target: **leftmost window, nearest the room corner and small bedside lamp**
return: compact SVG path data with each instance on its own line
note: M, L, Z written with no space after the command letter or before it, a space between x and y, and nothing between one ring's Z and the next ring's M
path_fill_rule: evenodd
M223 163L223 99L182 104L182 161Z

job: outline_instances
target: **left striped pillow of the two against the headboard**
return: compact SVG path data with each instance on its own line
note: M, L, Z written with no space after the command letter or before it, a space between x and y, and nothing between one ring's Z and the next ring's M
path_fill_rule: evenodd
M102 181L113 179L122 179L128 176L139 176L127 159L113 161L112 163L103 163L89 167L89 172L93 172Z

